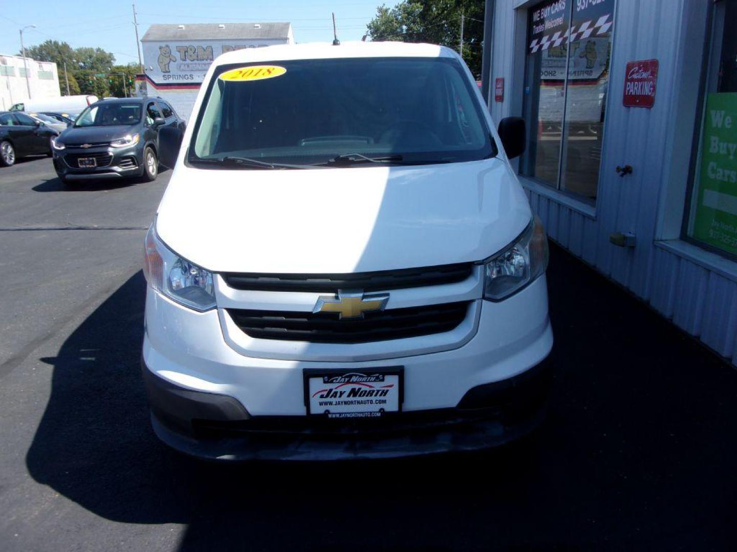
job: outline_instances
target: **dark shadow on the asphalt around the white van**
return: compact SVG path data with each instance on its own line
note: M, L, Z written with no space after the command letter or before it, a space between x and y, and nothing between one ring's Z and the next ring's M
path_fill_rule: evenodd
M208 464L150 429L139 272L43 359L52 392L29 473L106 520L186 524L181 550L723 548L736 373L560 250L549 276L556 389L528 439L427 459Z

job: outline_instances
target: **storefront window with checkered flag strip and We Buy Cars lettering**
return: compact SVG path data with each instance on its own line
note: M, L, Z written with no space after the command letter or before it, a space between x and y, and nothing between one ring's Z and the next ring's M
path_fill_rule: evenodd
M525 119L530 143L521 172L594 202L614 0L553 0L529 11Z

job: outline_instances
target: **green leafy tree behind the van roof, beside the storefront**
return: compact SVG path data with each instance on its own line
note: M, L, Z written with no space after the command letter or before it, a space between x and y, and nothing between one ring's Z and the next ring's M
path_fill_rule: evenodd
M377 7L368 23L371 40L428 42L458 50L464 15L463 58L475 77L481 75L483 0L403 0Z

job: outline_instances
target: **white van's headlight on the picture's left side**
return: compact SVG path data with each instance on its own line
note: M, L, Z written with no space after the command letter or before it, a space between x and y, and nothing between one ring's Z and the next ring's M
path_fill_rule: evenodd
M212 272L172 252L156 236L156 222L146 234L143 272L154 291L195 311L215 306Z

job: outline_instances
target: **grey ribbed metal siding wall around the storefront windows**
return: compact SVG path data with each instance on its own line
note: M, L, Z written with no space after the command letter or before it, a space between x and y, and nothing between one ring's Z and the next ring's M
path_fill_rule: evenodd
M525 189L531 208L548 234L583 261L649 302L680 328L737 364L737 283L668 250L654 246L662 171L671 151L672 103L677 51L682 40L686 2L700 0L617 0L607 121L601 156L596 218L591 219L547 196ZM495 120L510 114L510 98L523 94L514 81L518 0L497 0L491 78L505 78L503 104L492 102ZM526 40L526 37L525 37ZM624 73L629 60L657 59L657 95L652 110L622 106ZM517 52L517 60L523 59ZM621 178L617 165L635 172ZM609 234L631 231L634 250L615 247Z

